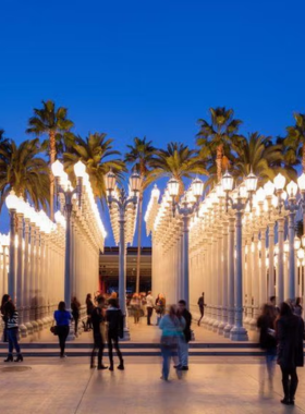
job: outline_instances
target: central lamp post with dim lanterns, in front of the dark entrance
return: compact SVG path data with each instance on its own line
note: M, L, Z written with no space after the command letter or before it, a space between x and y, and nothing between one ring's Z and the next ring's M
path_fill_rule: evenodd
M121 187L117 190L115 174L110 170L105 176L106 190L108 193L107 202L109 210L111 211L112 205L115 204L119 208L119 302L124 319L124 338L130 339L127 321L126 321L126 238L125 238L125 223L126 211L130 205L136 209L138 203L138 193L141 188L141 175L134 172L130 178L130 188L132 195L129 196L125 190Z

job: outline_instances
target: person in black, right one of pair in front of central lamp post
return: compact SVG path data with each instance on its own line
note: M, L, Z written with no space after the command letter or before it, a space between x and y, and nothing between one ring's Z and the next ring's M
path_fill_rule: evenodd
M113 370L113 346L117 351L120 364L118 369L124 369L124 361L119 346L119 338L124 336L123 314L119 309L118 301L113 297L109 300L109 307L106 312L106 320L108 322L108 352L109 352L109 370Z

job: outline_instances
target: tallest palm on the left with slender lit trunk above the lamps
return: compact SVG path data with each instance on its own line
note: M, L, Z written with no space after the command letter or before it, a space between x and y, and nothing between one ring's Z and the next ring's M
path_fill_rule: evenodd
M48 149L49 161L52 165L56 161L57 153L63 149L64 133L70 131L74 125L68 118L68 109L63 107L56 108L52 100L42 100L41 109L34 109L34 117L28 120L27 133L34 133L36 136L48 135L44 147ZM50 174L50 217L54 218L54 178L51 169Z

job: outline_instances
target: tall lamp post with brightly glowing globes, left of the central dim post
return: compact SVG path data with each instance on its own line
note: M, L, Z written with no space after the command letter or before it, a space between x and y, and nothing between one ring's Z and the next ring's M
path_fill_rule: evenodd
M71 214L72 214L72 198L74 195L78 198L78 205L81 206L83 176L86 172L86 166L78 161L74 166L74 172L77 178L77 186L73 188L71 182L68 180L68 175L63 171L62 163L57 160L52 163L52 173L56 178L56 193L64 197L64 214L65 214L65 255L64 255L64 302L69 312L71 312ZM69 339L74 339L74 330L70 330Z

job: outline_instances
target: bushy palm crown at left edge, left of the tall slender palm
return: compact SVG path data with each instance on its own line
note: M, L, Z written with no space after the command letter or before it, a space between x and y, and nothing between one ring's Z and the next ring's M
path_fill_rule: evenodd
M50 200L49 168L38 157L38 138L24 141L20 146L13 139L0 142L0 210L7 195L14 190L17 196L32 200L38 209L47 210Z

